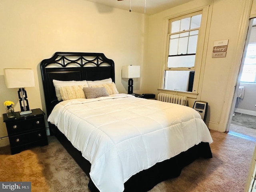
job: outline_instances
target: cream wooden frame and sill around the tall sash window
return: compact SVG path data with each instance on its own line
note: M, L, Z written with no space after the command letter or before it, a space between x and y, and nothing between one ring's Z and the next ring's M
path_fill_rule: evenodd
M207 20L208 20L208 12L209 12L209 6L205 6L202 8L198 8L196 10L192 10L189 12L184 12L179 15L170 16L169 18L166 18L166 28L167 28L167 34L166 34L166 48L165 48L165 54L164 54L164 66L162 68L162 81L160 84L160 87L158 90L162 92L168 92L168 93L179 93L181 95L187 96L188 98L197 98L198 93L201 92L202 89L202 79L203 79L203 73L204 71L204 64L206 61L206 51L207 51L207 42L208 42L208 35L206 35L206 32L209 32L209 27L207 26ZM193 84L193 90L192 92L186 92L186 91L177 91L177 90L167 90L164 89L164 74L165 70L169 70L167 64L168 64L168 56L169 56L169 40L170 40L170 34L168 33L170 30L170 20L178 20L181 18L187 18L192 15L196 14L202 14L200 29L198 33L198 42L197 42L197 48L196 48L196 59L195 59L195 65L194 65L194 84ZM208 34L208 33L207 33ZM182 70L182 68L180 68Z

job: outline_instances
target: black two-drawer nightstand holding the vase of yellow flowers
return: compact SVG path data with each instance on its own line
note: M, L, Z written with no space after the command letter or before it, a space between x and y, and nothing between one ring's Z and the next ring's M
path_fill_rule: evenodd
M32 109L31 114L20 115L15 112L14 118L3 114L6 124L11 153L16 154L34 145L48 145L44 112L41 109Z

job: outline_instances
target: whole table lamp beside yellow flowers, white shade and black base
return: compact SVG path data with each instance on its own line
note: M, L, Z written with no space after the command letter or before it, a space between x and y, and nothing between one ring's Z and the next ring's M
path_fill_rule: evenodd
M20 115L30 114L25 87L34 87L33 69L4 69L4 79L7 88L19 88Z

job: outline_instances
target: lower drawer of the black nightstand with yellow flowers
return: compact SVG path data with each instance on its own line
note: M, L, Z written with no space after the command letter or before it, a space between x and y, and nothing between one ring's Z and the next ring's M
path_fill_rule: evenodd
M12 147L21 146L24 144L37 142L39 140L44 140L44 139L47 139L45 129L40 129L35 132L30 132L27 134L20 134L20 135L15 135L15 136L9 137L10 145Z

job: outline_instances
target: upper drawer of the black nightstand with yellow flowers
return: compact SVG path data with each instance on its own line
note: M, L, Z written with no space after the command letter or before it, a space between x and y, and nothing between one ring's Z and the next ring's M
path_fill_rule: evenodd
M45 128L44 117L6 122L6 128L9 135Z

